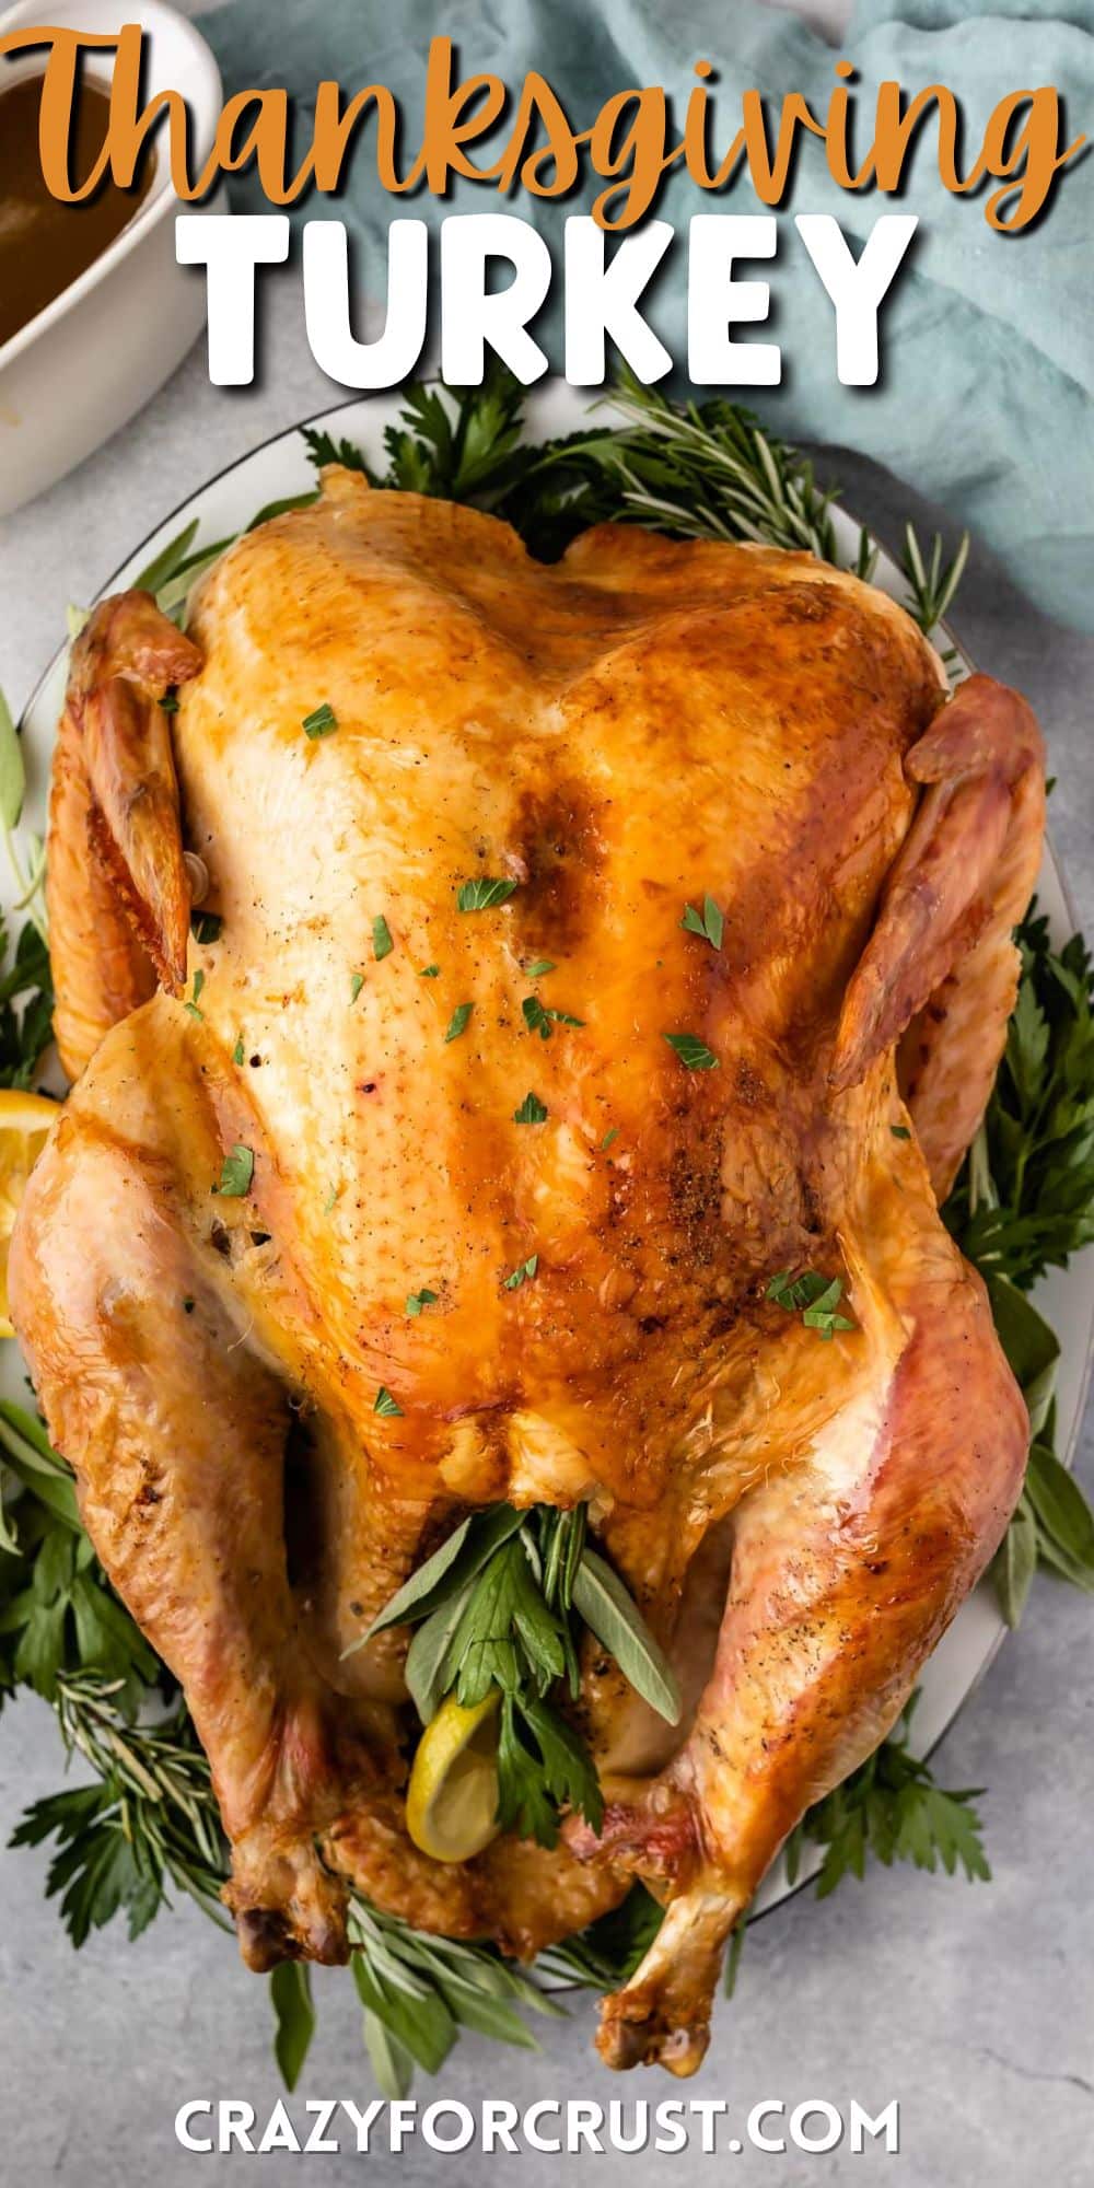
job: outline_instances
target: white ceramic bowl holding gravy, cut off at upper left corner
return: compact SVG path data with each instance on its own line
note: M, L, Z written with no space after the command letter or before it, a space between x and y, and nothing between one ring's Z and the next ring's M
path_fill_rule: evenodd
M136 11L125 0L18 0L0 15L0 37L48 22L114 35ZM142 0L144 96L186 98L197 158L221 109L221 77L206 39L162 0ZM0 90L42 72L46 55L0 59ZM109 53L90 70L105 79ZM175 265L177 199L158 136L153 186L109 249L61 289L18 335L0 344L0 516L18 510L109 440L166 381L206 317L201 274Z

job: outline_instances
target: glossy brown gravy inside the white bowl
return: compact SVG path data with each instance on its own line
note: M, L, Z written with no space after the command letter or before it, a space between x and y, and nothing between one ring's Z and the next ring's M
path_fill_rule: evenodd
M37 105L42 77L0 88L0 341L53 304L120 236L153 184L144 160L131 190L105 184L83 206L61 206L42 179ZM85 83L72 131L72 175L90 175L107 136L109 96Z

